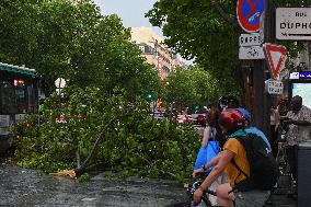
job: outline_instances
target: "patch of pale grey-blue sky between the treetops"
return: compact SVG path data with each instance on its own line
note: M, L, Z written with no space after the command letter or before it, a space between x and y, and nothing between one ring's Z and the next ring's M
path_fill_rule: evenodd
M151 26L145 13L152 9L157 0L94 0L104 15L116 13L126 27ZM154 27L160 34L160 28Z

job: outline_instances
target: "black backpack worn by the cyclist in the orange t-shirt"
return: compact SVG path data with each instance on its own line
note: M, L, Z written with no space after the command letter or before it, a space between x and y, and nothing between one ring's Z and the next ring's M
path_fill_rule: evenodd
M245 180L235 183L235 188L241 192L251 189L272 189L279 176L278 166L267 143L255 134L233 137L240 141L246 152L250 164L250 176L247 176L235 163L231 163L246 176Z

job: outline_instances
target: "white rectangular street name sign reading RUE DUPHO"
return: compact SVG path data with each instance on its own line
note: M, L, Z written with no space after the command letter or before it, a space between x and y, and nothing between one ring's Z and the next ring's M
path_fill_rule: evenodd
M311 41L311 8L277 8L276 38Z

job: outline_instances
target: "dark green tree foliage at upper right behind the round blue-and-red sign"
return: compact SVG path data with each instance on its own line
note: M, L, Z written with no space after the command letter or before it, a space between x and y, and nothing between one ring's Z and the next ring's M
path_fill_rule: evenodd
M274 7L301 7L297 0L274 0ZM237 20L237 1L228 0L160 0L146 13L153 26L163 31L165 44L184 58L196 58L210 74L221 80L220 88L231 91L243 79L238 58L239 35L242 33ZM296 57L300 45L280 42Z

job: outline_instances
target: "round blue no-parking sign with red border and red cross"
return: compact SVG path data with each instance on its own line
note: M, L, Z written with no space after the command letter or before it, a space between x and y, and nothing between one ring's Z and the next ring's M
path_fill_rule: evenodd
M265 0L238 0L237 18L241 27L247 32L258 32Z

